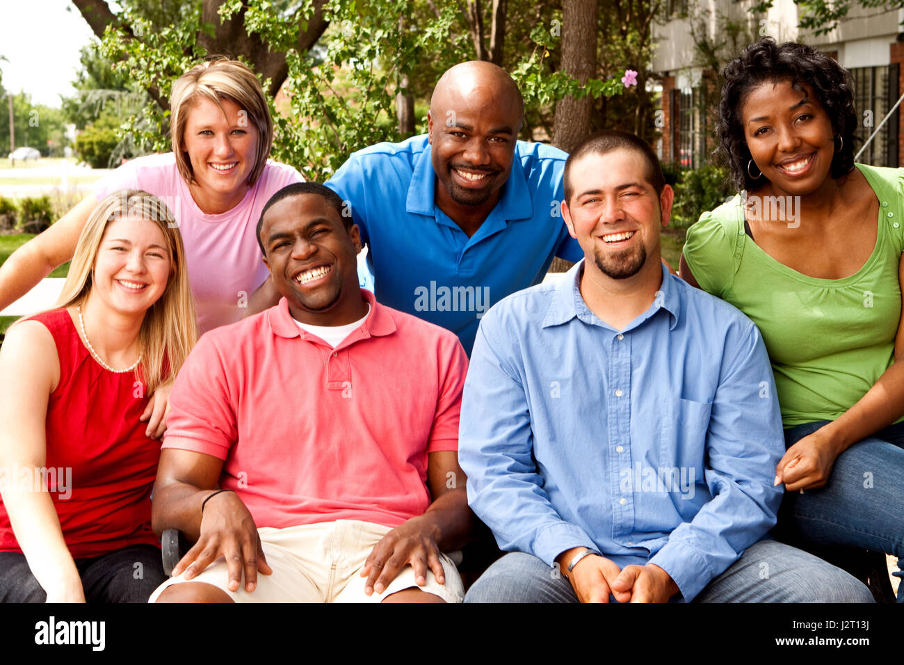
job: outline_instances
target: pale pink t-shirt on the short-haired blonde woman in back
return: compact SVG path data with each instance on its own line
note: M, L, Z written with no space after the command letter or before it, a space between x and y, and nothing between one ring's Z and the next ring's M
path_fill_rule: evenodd
M238 321L248 298L268 277L255 233L270 196L304 178L292 166L268 161L241 203L204 214L175 166L173 153L137 157L95 186L98 200L119 189L143 189L173 211L188 261L199 332Z

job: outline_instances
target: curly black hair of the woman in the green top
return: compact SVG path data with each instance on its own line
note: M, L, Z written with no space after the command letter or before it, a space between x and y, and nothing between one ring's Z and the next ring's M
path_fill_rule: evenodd
M791 81L796 89L806 83L823 105L836 137L843 145L832 159L832 177L840 178L853 168L854 129L857 113L853 108L851 73L824 52L802 43L777 44L764 37L747 47L739 58L722 71L722 100L719 108L717 150L731 170L731 184L737 189L754 189L765 180L749 176L750 151L744 139L741 108L749 92L764 81Z

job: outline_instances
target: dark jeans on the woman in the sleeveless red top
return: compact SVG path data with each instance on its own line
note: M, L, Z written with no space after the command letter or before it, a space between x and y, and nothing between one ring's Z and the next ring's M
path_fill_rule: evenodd
M76 559L75 566L89 603L147 603L166 581L160 549L152 545ZM46 599L25 556L0 552L0 603L43 603Z

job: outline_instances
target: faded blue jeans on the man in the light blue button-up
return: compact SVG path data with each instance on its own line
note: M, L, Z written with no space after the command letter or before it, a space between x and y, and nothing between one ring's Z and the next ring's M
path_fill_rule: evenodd
M615 602L613 596L610 602ZM513 552L491 565L466 603L577 603L571 583L536 556ZM694 603L872 603L860 580L816 556L760 540L693 599Z

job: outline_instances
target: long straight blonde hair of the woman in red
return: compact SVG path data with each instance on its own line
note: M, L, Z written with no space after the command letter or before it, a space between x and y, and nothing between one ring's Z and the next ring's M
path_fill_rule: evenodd
M198 338L182 234L163 201L140 189L122 189L103 199L81 230L66 282L53 309L81 305L88 299L104 232L109 223L126 216L156 223L164 233L171 258L166 289L147 309L138 331L142 359L136 374L145 384L146 394L151 394L176 375Z

